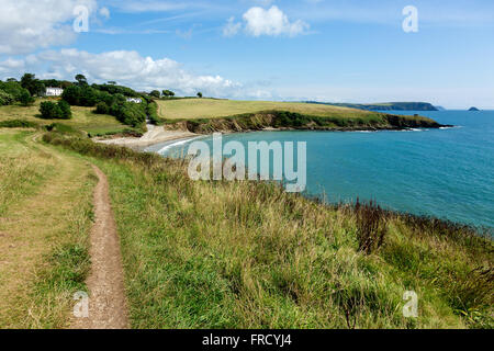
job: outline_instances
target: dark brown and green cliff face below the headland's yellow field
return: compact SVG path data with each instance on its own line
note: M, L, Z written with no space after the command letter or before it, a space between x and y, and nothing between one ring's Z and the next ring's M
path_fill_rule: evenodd
M284 111L267 111L225 118L189 120L168 124L168 128L187 129L198 134L214 132L249 132L274 128L280 131L400 131L407 128L439 128L444 125L420 116L375 113L366 118L319 117Z

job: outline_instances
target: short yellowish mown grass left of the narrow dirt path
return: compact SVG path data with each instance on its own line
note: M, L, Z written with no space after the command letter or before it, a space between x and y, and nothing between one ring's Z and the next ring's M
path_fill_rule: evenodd
M66 325L89 268L90 168L0 128L0 328Z

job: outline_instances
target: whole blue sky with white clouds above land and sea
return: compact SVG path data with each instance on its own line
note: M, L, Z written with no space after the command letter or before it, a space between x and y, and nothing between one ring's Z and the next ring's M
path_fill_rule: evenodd
M81 71L181 94L494 109L490 0L0 1L2 79ZM77 5L88 32L72 30Z

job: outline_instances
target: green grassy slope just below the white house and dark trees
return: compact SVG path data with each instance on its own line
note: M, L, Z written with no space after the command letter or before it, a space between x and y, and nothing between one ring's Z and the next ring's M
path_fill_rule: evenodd
M33 106L23 107L19 105L0 106L0 122L9 120L22 120L35 122L41 125L52 123L63 123L70 125L77 129L92 134L104 134L110 132L122 132L128 126L120 123L115 117L110 115L98 115L92 113L92 107L71 106L72 118L61 120L42 120L40 115L40 104L43 100L37 99Z

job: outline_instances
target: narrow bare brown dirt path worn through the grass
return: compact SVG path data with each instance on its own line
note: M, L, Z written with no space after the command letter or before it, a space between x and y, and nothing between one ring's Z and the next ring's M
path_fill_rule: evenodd
M106 176L92 166L99 178L94 190L96 223L91 229L91 273L89 288L89 317L75 318L72 329L128 328L126 298L123 283L122 257L115 219L110 205Z

